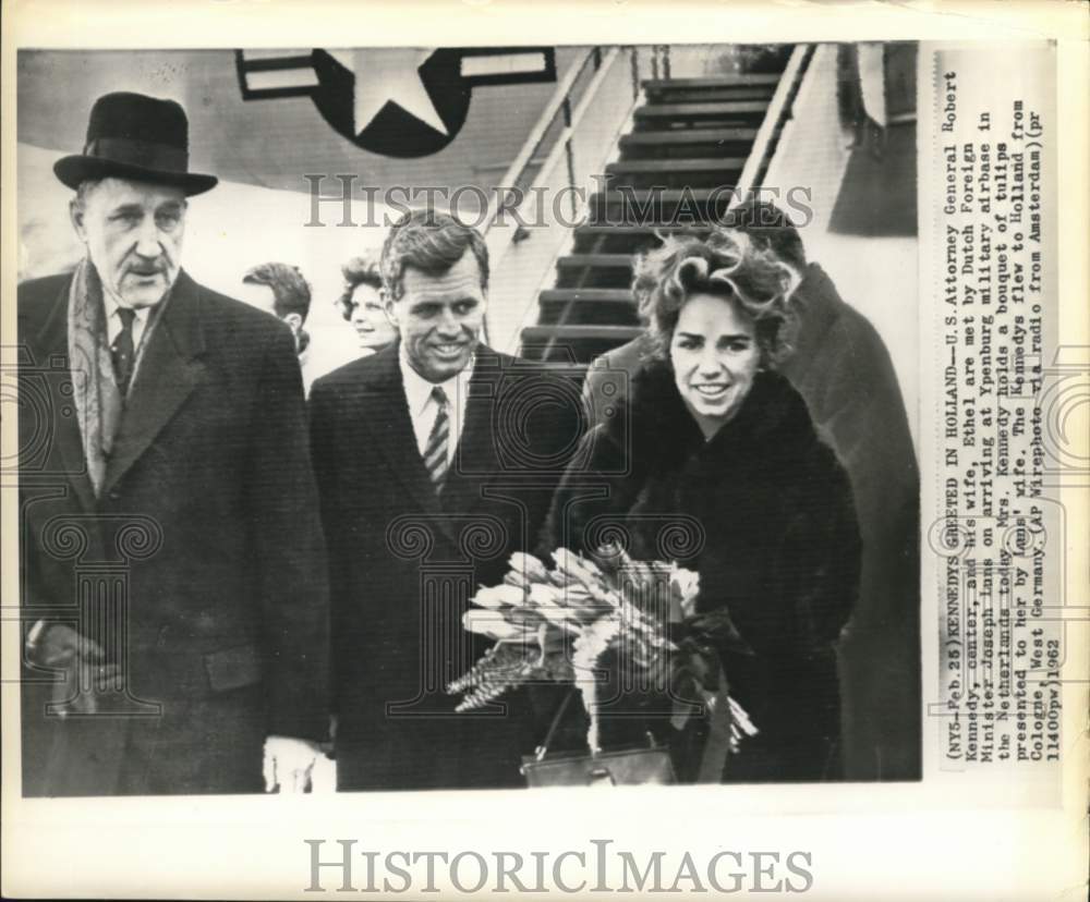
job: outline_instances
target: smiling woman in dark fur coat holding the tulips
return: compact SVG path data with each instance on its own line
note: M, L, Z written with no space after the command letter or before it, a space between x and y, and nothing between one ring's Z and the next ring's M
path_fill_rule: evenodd
M594 554L620 543L634 559L697 571L690 625L717 623L726 685L756 728L722 779L837 779L836 642L860 538L844 468L775 371L790 346L789 275L744 237L717 232L667 241L638 261L633 288L655 355L626 403L584 437L542 548ZM638 743L650 729L693 779L694 723L706 731L706 719L679 731L664 694L614 694L600 709L603 745ZM647 716L633 719L641 708Z

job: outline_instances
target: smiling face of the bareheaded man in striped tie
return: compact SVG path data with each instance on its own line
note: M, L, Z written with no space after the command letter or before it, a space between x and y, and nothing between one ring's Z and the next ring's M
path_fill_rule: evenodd
M429 382L461 373L481 341L487 298L472 251L441 276L405 267L401 297L387 312L401 331L409 364Z

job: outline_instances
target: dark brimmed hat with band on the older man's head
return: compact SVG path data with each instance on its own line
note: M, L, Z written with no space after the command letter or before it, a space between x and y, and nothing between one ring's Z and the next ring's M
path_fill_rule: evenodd
M181 103L119 92L95 101L82 154L62 157L53 172L70 188L108 175L173 185L186 194L215 187L215 175L190 172L190 122Z

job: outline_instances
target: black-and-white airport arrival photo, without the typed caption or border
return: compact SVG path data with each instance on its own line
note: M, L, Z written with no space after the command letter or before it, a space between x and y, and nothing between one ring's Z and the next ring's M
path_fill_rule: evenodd
M21 51L23 792L918 779L916 57Z

